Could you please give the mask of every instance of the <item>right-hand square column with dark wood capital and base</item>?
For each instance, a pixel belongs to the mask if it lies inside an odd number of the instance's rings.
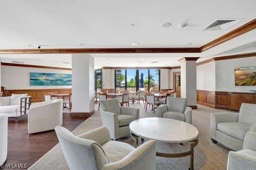
[[[187,105],[197,109],[197,59],[199,57],[184,57],[180,62],[180,93],[181,98],[187,98]]]

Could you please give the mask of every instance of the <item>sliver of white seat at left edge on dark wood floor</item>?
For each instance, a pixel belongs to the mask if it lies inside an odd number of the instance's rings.
[[[0,117],[0,166],[7,158],[8,117]]]

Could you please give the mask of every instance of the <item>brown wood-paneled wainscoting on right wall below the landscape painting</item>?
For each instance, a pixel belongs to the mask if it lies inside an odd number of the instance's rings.
[[[212,108],[239,111],[243,102],[256,104],[256,93],[197,90],[197,103]]]

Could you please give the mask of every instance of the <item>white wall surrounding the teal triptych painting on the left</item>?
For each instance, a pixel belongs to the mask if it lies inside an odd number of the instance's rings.
[[[72,88],[71,85],[56,86],[30,86],[30,72],[71,74],[71,70],[46,69],[46,68],[25,68],[14,66],[1,66],[1,86],[6,89],[46,89],[46,88]]]

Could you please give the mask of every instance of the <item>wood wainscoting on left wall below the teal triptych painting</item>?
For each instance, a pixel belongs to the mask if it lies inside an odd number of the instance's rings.
[[[31,96],[32,102],[43,102],[44,95],[49,93],[69,94],[72,93],[72,88],[54,88],[54,89],[22,89],[22,90],[8,90],[9,94],[24,94]]]

